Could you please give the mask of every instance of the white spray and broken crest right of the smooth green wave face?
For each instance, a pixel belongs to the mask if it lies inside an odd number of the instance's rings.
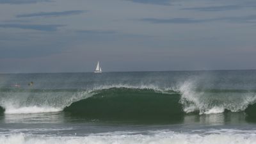
[[[199,111],[199,114],[223,113],[225,110],[244,111],[249,104],[256,102],[255,92],[237,90],[197,90],[193,81],[180,86],[180,104],[186,113]]]

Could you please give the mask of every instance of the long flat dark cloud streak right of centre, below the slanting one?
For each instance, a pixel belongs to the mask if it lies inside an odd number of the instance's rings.
[[[154,19],[154,18],[145,18],[145,19],[140,19],[145,22],[151,22],[151,23],[156,23],[156,24],[191,24],[191,23],[198,23],[198,22],[206,22],[208,21],[207,19],[205,20],[196,20],[196,19],[189,19],[189,18],[173,18],[173,19]]]

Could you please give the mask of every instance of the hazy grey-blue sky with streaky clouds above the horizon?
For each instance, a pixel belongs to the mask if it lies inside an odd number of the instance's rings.
[[[0,73],[256,68],[255,0],[0,0]]]

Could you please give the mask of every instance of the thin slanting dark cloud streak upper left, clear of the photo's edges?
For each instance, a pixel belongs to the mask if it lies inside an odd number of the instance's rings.
[[[84,10],[70,10],[63,12],[40,12],[40,13],[29,13],[17,15],[16,17],[60,17],[65,15],[78,15],[80,13],[84,13]]]

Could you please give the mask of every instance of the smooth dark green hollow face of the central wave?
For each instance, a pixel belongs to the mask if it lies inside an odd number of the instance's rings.
[[[179,93],[110,88],[64,109],[74,116],[100,120],[180,120],[184,111]]]

